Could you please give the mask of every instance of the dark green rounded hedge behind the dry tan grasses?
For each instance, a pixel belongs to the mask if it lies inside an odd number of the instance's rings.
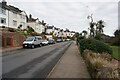
[[[98,53],[106,52],[112,54],[112,48],[109,45],[99,40],[82,39],[80,40],[79,44],[80,44],[81,53],[83,53],[85,49],[89,49]]]

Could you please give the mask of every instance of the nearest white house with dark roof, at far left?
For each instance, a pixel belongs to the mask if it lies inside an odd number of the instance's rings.
[[[26,29],[26,12],[14,6],[7,5],[5,0],[0,3],[0,27]]]

